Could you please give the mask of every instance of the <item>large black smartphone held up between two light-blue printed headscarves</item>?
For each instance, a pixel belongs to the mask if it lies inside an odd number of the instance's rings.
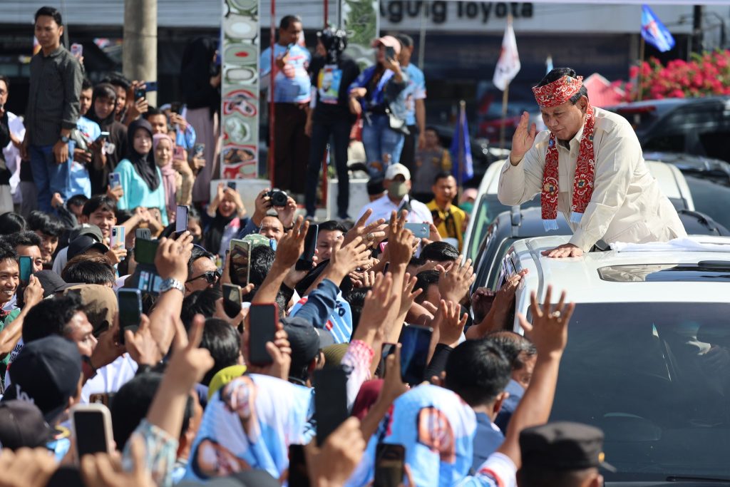
[[[315,370],[317,445],[347,419],[347,374],[342,367]]]

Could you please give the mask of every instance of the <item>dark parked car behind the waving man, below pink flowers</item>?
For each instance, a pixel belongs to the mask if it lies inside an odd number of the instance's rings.
[[[730,97],[634,101],[607,107],[631,122],[646,151],[688,153],[730,162]]]

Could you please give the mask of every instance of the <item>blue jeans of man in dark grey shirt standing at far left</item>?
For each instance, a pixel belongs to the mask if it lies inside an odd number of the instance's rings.
[[[53,193],[61,193],[61,198],[69,199],[71,192],[70,168],[74,157],[74,142],[69,142],[69,160],[55,164],[53,145],[31,145],[28,152],[31,158],[31,171],[38,190],[38,209],[51,213],[50,199]]]

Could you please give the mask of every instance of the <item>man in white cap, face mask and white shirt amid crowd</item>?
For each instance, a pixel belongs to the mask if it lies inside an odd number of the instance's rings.
[[[407,210],[407,221],[410,223],[434,223],[431,216],[431,210],[425,204],[410,199],[408,193],[411,190],[410,171],[403,164],[391,164],[385,171],[383,179],[385,186],[385,194],[374,202],[366,204],[358,215],[358,219],[364,215],[367,210],[372,210],[372,215],[368,218],[366,224],[384,218],[388,221],[391,218],[391,212],[401,212]]]

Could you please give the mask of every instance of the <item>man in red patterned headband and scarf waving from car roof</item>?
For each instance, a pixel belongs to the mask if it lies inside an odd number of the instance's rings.
[[[583,77],[556,68],[532,88],[547,131],[536,134],[524,112],[499,177],[502,204],[541,193],[545,229],[557,229],[560,210],[573,236],[545,250],[548,257],[580,257],[599,240],[666,242],[686,237],[682,222],[642,157],[629,122],[591,107]]]

